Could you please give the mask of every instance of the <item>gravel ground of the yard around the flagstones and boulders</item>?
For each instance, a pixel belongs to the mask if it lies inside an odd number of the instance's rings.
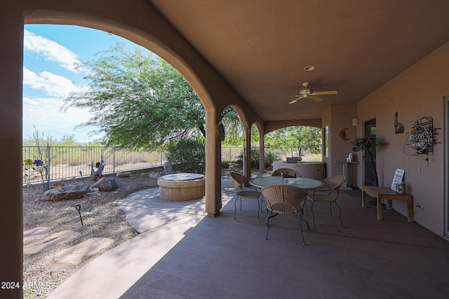
[[[229,172],[232,171],[241,172],[241,165],[230,163],[229,167],[222,169],[222,175],[229,175]],[[44,239],[61,230],[73,230],[74,232],[79,232],[80,235],[69,242],[54,246],[41,253],[23,257],[24,281],[27,284],[39,286],[24,289],[24,298],[46,298],[62,281],[65,281],[65,279],[69,278],[91,260],[138,235],[138,232],[126,221],[126,215],[121,211],[118,203],[124,197],[136,191],[156,188],[157,181],[156,179],[149,179],[150,173],[150,171],[136,172],[128,178],[115,177],[119,185],[118,189],[101,192],[101,195],[98,197],[96,195],[88,195],[79,200],[43,202],[39,200],[43,194],[43,186],[41,184],[32,188],[25,187],[23,189],[23,230],[39,226],[48,227],[51,230],[40,237],[28,239],[27,242],[24,242],[24,245]],[[88,178],[85,178],[84,181],[76,179],[64,181],[64,183],[66,185],[87,183],[89,186],[93,184]],[[81,204],[83,225],[81,225],[79,213],[75,208],[77,203]],[[82,260],[79,265],[62,265],[54,262],[56,253],[86,241],[86,239],[91,237],[111,238],[114,239],[114,243],[98,251],[90,258]]]

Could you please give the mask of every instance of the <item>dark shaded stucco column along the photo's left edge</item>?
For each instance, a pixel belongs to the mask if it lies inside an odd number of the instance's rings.
[[[22,67],[23,18],[16,8],[0,8],[0,281],[2,298],[22,298]]]

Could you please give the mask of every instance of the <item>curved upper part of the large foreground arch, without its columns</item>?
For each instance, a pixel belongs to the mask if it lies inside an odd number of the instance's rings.
[[[45,4],[34,4],[29,0],[23,2],[25,24],[78,25],[98,29],[151,50],[185,77],[205,109],[215,109],[207,86],[212,82],[224,85],[221,78],[148,2],[133,1],[135,4],[130,4],[130,1],[119,1],[114,6],[105,2],[101,10],[87,0],[46,1]],[[142,19],[148,22],[138,22]],[[209,80],[205,82],[205,78]]]

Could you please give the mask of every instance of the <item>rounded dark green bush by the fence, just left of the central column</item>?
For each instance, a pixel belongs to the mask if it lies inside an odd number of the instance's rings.
[[[166,157],[175,170],[201,174],[206,167],[206,146],[198,139],[181,139],[168,146]]]

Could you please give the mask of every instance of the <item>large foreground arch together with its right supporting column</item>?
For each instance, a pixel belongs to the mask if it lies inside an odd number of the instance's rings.
[[[221,143],[216,133],[220,111],[236,103],[252,118],[258,116],[192,44],[149,1],[114,1],[113,6],[102,1],[101,9],[99,1],[90,0],[6,1],[11,8],[20,6],[25,24],[79,25],[111,32],[151,50],[185,77],[206,109],[206,211],[209,216],[218,214],[222,198]]]

